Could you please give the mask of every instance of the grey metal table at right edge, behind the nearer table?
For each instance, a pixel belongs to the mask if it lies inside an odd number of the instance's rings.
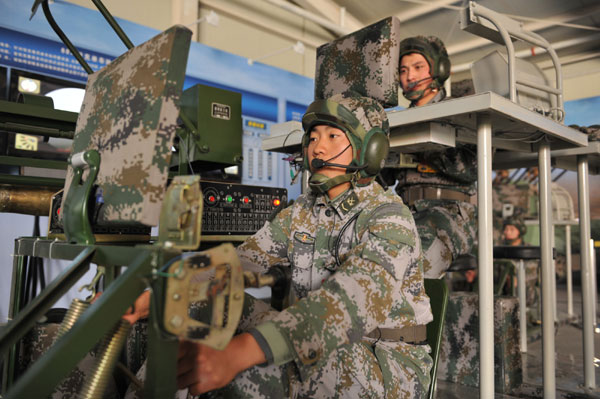
[[[591,221],[589,174],[600,174],[600,142],[589,142],[586,147],[552,151],[550,154],[553,166],[561,169],[577,171],[577,191],[579,197],[579,239],[581,253],[581,291],[583,318],[583,366],[586,388],[596,388],[594,371],[594,324],[596,320],[596,279],[595,265],[591,260]],[[494,164],[499,168],[509,165],[519,167],[532,166],[531,154],[498,154]],[[513,166],[515,167],[515,166]],[[571,305],[572,306],[572,305]]]

